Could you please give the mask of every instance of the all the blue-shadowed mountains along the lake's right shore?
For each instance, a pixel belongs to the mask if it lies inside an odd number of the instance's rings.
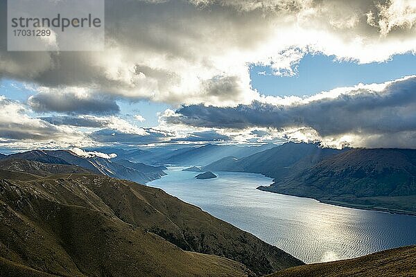
[[[399,213],[416,213],[416,150],[320,148],[284,145],[202,168],[256,172],[275,178],[259,189],[323,202]]]

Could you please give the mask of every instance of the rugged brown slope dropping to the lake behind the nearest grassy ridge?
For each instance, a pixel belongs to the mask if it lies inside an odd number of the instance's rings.
[[[97,177],[100,181],[95,182],[78,175],[71,178],[78,184],[86,184],[123,221],[157,233],[184,250],[225,256],[259,275],[303,264],[277,247],[158,188],[130,181],[114,184],[114,179],[105,177]]]

